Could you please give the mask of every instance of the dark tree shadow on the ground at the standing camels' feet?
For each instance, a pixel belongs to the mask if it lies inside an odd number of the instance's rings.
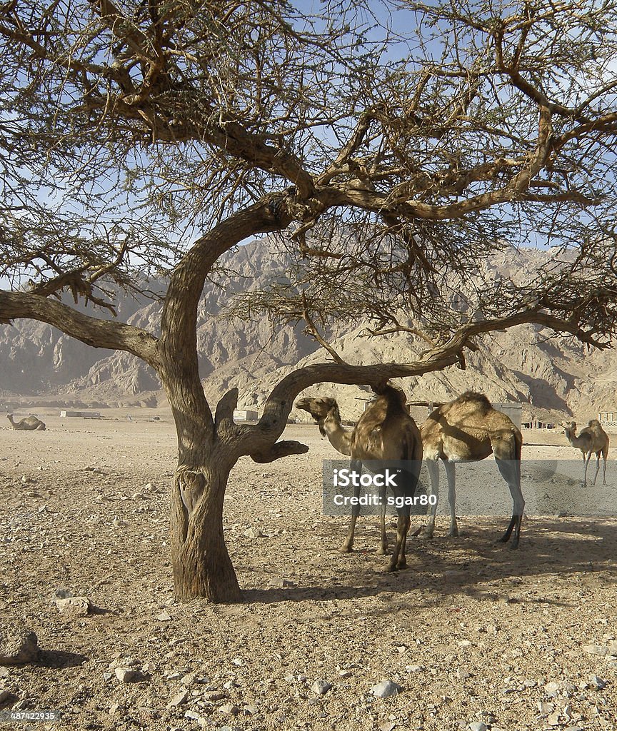
[[[500,599],[512,604],[565,606],[567,602],[550,596],[517,598],[512,581],[524,582],[526,577],[542,574],[593,575],[615,569],[612,557],[617,555],[617,523],[614,520],[579,518],[572,522],[567,518],[527,518],[524,525],[526,530],[521,534],[521,545],[516,550],[510,550],[508,544],[497,540],[499,531],[491,539],[487,532],[493,528],[488,529],[485,525],[467,524],[465,534],[460,538],[438,534],[431,540],[409,539],[409,567],[394,573],[385,570],[387,560],[377,556],[374,547],[341,553],[338,558],[333,551],[335,565],[331,569],[341,570],[340,583],[332,583],[330,577],[324,577],[321,585],[319,579],[308,586],[300,585],[302,577],[298,576],[294,577],[298,586],[246,589],[243,601],[254,604],[328,602],[385,594],[402,597],[420,592],[420,598],[414,598],[417,607],[439,605],[444,596],[461,594],[480,601]],[[327,537],[323,539],[326,541]],[[358,545],[366,539],[366,535],[358,535]],[[358,558],[362,559],[361,563]],[[268,568],[262,569],[265,570],[262,576],[265,576]],[[272,575],[277,573],[272,571]],[[617,583],[617,575],[603,577],[603,580]],[[501,582],[503,586],[499,586]]]

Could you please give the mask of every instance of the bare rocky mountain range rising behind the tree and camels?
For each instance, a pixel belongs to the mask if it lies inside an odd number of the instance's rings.
[[[200,303],[197,341],[200,372],[209,398],[237,386],[241,408],[259,409],[276,382],[298,365],[324,360],[323,352],[301,326],[273,326],[267,319],[237,322],[224,317],[236,292],[264,288],[289,268],[282,251],[272,254],[267,240],[256,240],[228,254],[225,289],[207,284]],[[534,249],[496,254],[488,276],[537,268],[548,254]],[[164,283],[150,283],[164,292]],[[118,296],[118,317],[153,333],[159,328],[160,301]],[[87,311],[87,310],[86,310]],[[96,313],[100,317],[100,313]],[[411,336],[363,337],[363,324],[340,322],[333,344],[350,363],[406,362],[422,349]],[[524,412],[575,414],[590,418],[617,411],[617,355],[588,352],[572,338],[554,336],[526,325],[485,336],[478,352],[467,356],[467,369],[455,367],[404,385],[412,401],[446,401],[466,388],[493,401],[520,401]],[[357,417],[368,389],[322,384],[310,393],[336,395],[350,419]],[[55,405],[157,406],[165,403],[156,374],[124,352],[81,344],[48,325],[20,320],[0,327],[0,402]],[[300,412],[298,416],[304,417]]]

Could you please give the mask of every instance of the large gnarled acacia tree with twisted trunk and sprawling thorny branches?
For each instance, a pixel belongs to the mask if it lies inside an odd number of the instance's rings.
[[[379,390],[526,322],[597,347],[616,327],[616,4],[342,5],[0,5],[0,322],[47,322],[158,374],[178,433],[179,599],[241,596],[227,477],[241,455],[306,451],[279,441],[300,390]],[[224,252],[267,232],[287,235],[298,267],[241,304],[303,319],[330,360],[282,379],[260,423],[236,425],[237,390],[216,409],[205,399],[197,306]],[[559,247],[554,265],[477,279],[488,254],[531,237]],[[110,317],[111,284],[143,292],[160,275],[159,333]],[[473,276],[468,306],[451,306],[453,278]],[[77,310],[67,290],[102,311]],[[344,363],[319,325],[341,313],[427,349]]]

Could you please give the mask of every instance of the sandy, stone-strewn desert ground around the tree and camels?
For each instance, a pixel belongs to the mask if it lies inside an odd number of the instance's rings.
[[[322,514],[321,492],[322,460],[336,452],[317,428],[290,425],[286,438],[308,454],[232,472],[225,530],[246,601],[181,605],[167,533],[173,423],[130,413],[42,411],[48,431],[0,430],[0,624],[26,624],[43,651],[0,667],[2,708],[61,712],[7,727],[616,726],[616,519],[526,515],[510,550],[495,542],[512,505],[495,470],[502,516],[461,515],[458,538],[439,517],[434,539],[410,540],[409,568],[388,574],[374,517],[358,521],[353,553],[338,552],[347,519]],[[561,434],[523,438],[523,459],[579,458]],[[617,503],[612,441],[605,490]],[[63,596],[94,608],[67,618]],[[131,682],[121,667],[137,671]],[[382,681],[400,692],[375,697]]]

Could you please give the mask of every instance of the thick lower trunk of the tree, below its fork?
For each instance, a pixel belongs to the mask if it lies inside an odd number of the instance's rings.
[[[241,590],[223,534],[223,501],[230,467],[216,456],[186,466],[181,458],[171,499],[175,596],[187,602],[238,602]]]

